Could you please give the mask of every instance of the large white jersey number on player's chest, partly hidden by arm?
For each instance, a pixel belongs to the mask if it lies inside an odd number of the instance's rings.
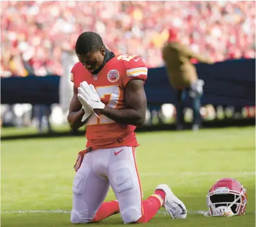
[[[109,107],[116,108],[120,99],[120,89],[118,85],[98,86],[96,87],[96,91],[100,95],[100,99],[107,99],[107,105]],[[114,121],[105,115],[100,115],[99,119],[95,114],[92,114],[88,119],[87,125],[108,123],[114,123]]]

